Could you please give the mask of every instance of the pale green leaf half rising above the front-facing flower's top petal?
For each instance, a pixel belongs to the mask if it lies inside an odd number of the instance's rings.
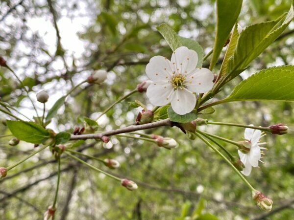
[[[179,36],[172,30],[172,28],[169,25],[163,23],[157,26],[156,29],[164,37],[166,42],[170,45],[172,51],[174,51],[176,48],[182,45]]]

